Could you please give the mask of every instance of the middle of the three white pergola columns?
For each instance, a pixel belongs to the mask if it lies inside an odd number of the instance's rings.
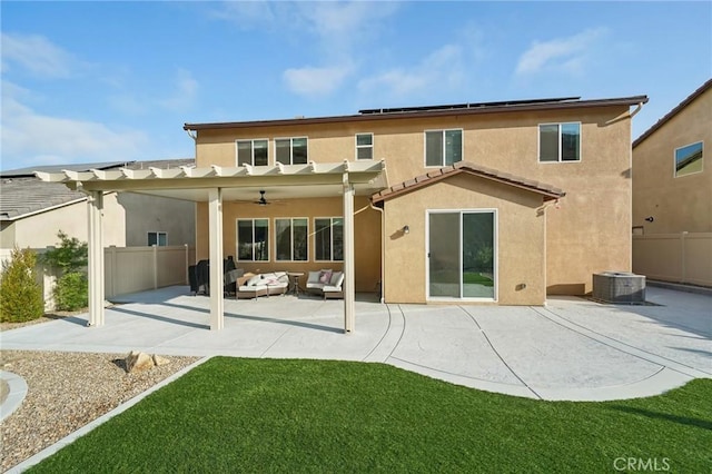
[[[219,330],[225,325],[225,304],[222,300],[222,189],[209,191],[210,244],[210,329]]]

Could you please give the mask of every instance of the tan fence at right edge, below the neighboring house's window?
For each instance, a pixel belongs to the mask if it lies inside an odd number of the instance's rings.
[[[650,279],[712,286],[712,233],[634,235],[633,271]]]

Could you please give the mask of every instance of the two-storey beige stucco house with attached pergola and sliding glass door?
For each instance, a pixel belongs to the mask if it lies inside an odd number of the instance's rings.
[[[101,190],[195,200],[210,286],[221,287],[229,255],[246,271],[304,273],[303,284],[310,270],[344,270],[350,332],[355,292],[380,290],[386,303],[543,305],[591,292],[594,273],[630,270],[631,120],[646,101],[186,124],[196,168],[40,176],[95,192],[95,229]],[[222,298],[210,297],[219,329]],[[100,324],[99,305],[92,313]]]

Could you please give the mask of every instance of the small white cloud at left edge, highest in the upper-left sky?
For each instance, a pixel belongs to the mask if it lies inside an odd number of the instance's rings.
[[[76,59],[38,34],[2,33],[3,72],[18,65],[36,76],[68,78]]]

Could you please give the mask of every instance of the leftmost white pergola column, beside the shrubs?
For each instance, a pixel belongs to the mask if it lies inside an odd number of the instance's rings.
[[[91,191],[87,200],[89,214],[88,277],[89,326],[103,326],[103,191]]]

